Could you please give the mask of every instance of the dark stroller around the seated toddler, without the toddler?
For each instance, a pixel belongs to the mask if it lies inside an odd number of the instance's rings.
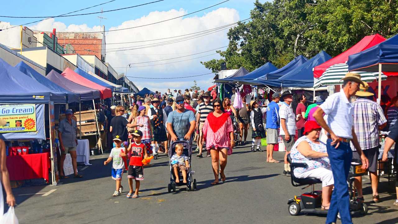
[[[171,143],[170,145],[170,149],[169,149],[169,158],[172,157],[172,155],[174,154],[174,152],[176,151],[176,145],[177,144],[181,144],[184,146],[184,151],[183,154],[186,155],[189,158],[189,169],[187,170],[187,183],[183,183],[183,177],[182,177],[182,173],[178,172],[178,179],[179,179],[179,183],[176,183],[176,181],[174,181],[174,172],[173,172],[173,165],[171,164],[171,161],[169,159],[169,166],[170,166],[170,183],[167,186],[167,189],[170,192],[176,192],[176,186],[183,186],[186,185],[187,186],[187,191],[195,191],[197,189],[197,185],[196,185],[196,179],[193,179],[192,174],[194,173],[191,169],[191,157],[192,157],[192,147],[189,145],[188,141],[174,141]]]

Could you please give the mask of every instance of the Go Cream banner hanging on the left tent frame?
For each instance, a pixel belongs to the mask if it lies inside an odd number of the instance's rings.
[[[6,120],[0,133],[36,132],[35,104],[0,104],[0,119]]]

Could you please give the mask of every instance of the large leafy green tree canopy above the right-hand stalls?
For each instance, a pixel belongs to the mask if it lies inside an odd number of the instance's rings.
[[[213,73],[227,69],[248,71],[271,62],[283,67],[297,55],[307,58],[324,50],[332,57],[367,35],[388,38],[398,33],[396,0],[274,0],[254,3],[252,20],[227,33],[228,48],[221,59],[201,62]]]

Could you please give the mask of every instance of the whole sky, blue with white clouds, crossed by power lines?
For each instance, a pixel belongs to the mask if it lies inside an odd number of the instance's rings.
[[[114,2],[97,6],[88,10],[84,10],[80,13],[98,12],[103,10],[112,10],[116,8],[123,8],[128,6],[134,6],[154,0],[138,0],[138,1],[127,1],[127,0],[115,0]],[[100,19],[97,16],[102,16],[107,19],[101,21],[102,25],[105,25],[105,29],[117,29],[126,28],[142,24],[148,24],[173,18],[179,15],[187,14],[207,8],[211,5],[222,2],[223,0],[164,0],[149,4],[146,6],[139,6],[137,8],[119,10],[116,12],[106,12],[102,15],[86,15],[86,16],[74,16],[55,18],[43,21],[41,24],[31,24],[28,27],[51,30],[52,28],[58,28],[57,30],[65,29],[66,31],[91,31],[96,30],[96,26],[100,25]],[[74,10],[79,10],[89,6],[93,6],[99,3],[107,2],[102,1],[81,1],[81,0],[69,0],[67,2],[61,1],[48,1],[48,0],[37,0],[32,4],[31,1],[3,1],[2,7],[0,7],[0,15],[2,16],[54,16],[59,14],[68,13]],[[125,32],[114,31],[106,34],[107,43],[120,43],[127,40],[130,41],[142,41],[148,39],[158,39],[164,37],[171,37],[176,35],[183,35],[187,33],[193,33],[197,31],[207,30],[231,24],[237,20],[243,20],[250,17],[250,10],[254,8],[255,0],[230,0],[213,8],[209,8],[205,11],[201,11],[187,17],[172,20],[158,24],[157,26],[146,26],[145,28],[130,29]],[[265,2],[261,0],[260,2]],[[12,9],[12,10],[10,10]],[[27,22],[33,22],[35,18],[1,18],[2,22],[10,22],[12,25],[20,25]],[[142,50],[131,50],[123,51],[119,53],[125,53],[129,55],[120,55],[114,53],[108,53],[106,60],[111,63],[113,67],[125,67],[128,63],[140,63],[146,61],[155,61],[162,59],[169,59],[173,57],[179,57],[184,55],[190,55],[193,53],[199,53],[217,47],[228,45],[226,39],[226,32],[220,31],[205,37],[196,38],[181,43],[174,43],[167,46],[152,47]],[[151,43],[151,42],[147,42]],[[117,47],[128,47],[135,46],[136,44],[124,44],[124,45],[107,45],[109,48]],[[189,53],[191,52],[191,53]],[[191,59],[194,57],[201,57],[203,55],[209,55],[212,52],[202,53],[193,55],[190,57],[184,57],[181,59],[161,61],[158,63],[167,63],[173,61],[180,61],[184,59]],[[135,55],[132,55],[135,54]],[[138,56],[137,54],[140,54]],[[156,54],[156,55],[154,55]],[[131,68],[127,71],[127,76],[134,77],[184,77],[190,75],[201,75],[209,73],[200,61],[207,61],[209,59],[218,58],[218,55],[211,55],[208,57],[202,57],[199,59],[193,59],[190,61],[173,63],[170,65],[161,66],[148,66]],[[139,65],[154,65],[156,63],[142,63]],[[125,69],[117,69],[119,72],[124,72]],[[151,90],[160,90],[164,92],[167,88],[178,88],[184,89],[189,88],[193,85],[193,80],[198,81],[198,85],[202,88],[211,86],[211,78],[213,75],[206,75],[195,78],[184,78],[178,80],[143,80],[129,78],[140,88],[147,87]],[[159,83],[162,83],[160,85]]]

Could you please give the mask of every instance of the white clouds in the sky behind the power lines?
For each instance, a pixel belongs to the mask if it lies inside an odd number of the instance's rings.
[[[136,20],[125,21],[119,26],[114,26],[109,28],[109,30],[142,26],[145,24],[155,23],[161,20],[166,20],[168,18],[182,16],[187,13],[189,12],[187,12],[182,8],[179,10],[173,9],[162,12],[154,11]],[[195,33],[207,29],[213,29],[227,24],[232,24],[234,22],[237,22],[238,20],[239,20],[239,14],[237,10],[232,8],[218,8],[217,10],[208,12],[203,16],[183,17],[140,28],[107,32],[105,34],[105,40],[106,43],[120,43],[120,42],[160,39],[165,37],[184,35],[187,33]],[[29,28],[37,30],[46,30],[46,31],[56,28],[58,32],[60,31],[81,32],[81,31],[100,30],[99,26],[94,26],[90,28],[86,24],[80,24],[80,25],[70,24],[66,26],[62,22],[55,22],[54,19],[44,20],[42,22],[39,22],[35,26],[30,26]],[[159,47],[150,47],[145,49],[114,52],[117,54],[107,53],[106,61],[109,62],[112,65],[112,67],[125,67],[129,63],[156,61],[161,59],[190,55],[193,53],[199,53],[201,51],[206,51],[228,45],[228,39],[226,38],[227,32],[228,29],[225,29],[223,31],[216,32],[214,34],[205,35],[203,37],[198,37],[195,39],[182,41],[179,43],[163,45]],[[111,48],[133,47],[137,45],[157,43],[172,39],[147,41],[139,43],[111,44],[111,45],[108,44],[106,45],[106,48],[107,51],[111,51]],[[173,54],[173,53],[192,52],[192,51],[195,52]],[[180,59],[136,64],[132,66],[154,65],[154,64],[168,63],[173,61],[181,61],[185,59],[191,59],[195,57],[209,55],[211,53],[215,53],[215,51],[206,52],[203,54],[193,55],[189,57],[183,57]],[[122,54],[141,54],[141,55],[122,55]],[[153,54],[170,54],[170,55],[153,55]],[[209,73],[210,71],[205,69],[203,65],[201,65],[199,62],[207,61],[211,58],[217,58],[217,57],[219,57],[219,55],[212,55],[209,57],[194,59],[192,61],[172,63],[168,65],[131,68],[128,70],[127,76],[159,78],[159,77],[184,77],[191,75],[201,75]],[[125,72],[125,69],[117,69],[117,71]],[[198,86],[201,86],[202,89],[207,89],[207,87],[212,85],[211,81],[213,80],[213,77],[214,77],[213,74],[209,74],[203,77],[192,77],[192,78],[172,79],[172,80],[148,80],[148,79],[145,80],[145,79],[134,79],[134,78],[129,78],[129,79],[133,81],[140,89],[143,87],[147,87],[151,90],[159,90],[161,92],[165,92],[167,88],[177,88],[177,89],[189,88],[190,86],[193,85],[193,80],[197,80]]]

